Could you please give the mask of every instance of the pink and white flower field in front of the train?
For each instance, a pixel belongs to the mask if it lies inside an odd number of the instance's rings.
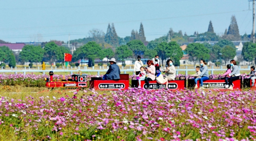
[[[15,141],[251,141],[256,91],[1,88],[0,139]]]

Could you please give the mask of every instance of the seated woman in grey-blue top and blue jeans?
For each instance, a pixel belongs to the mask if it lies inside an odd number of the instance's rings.
[[[195,88],[198,88],[198,80],[200,81],[200,89],[203,88],[203,81],[209,80],[208,67],[206,66],[205,60],[200,60],[200,75],[195,79]]]

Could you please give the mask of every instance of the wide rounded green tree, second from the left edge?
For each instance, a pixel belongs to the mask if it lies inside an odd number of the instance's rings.
[[[44,57],[45,50],[41,46],[25,45],[19,53],[20,59],[30,63],[40,62]]]

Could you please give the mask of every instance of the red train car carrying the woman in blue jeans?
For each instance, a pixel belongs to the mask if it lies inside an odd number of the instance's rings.
[[[189,77],[192,78],[192,77]],[[212,76],[209,77],[209,80],[203,82],[203,88],[205,89],[219,89],[219,90],[229,90],[225,88],[225,80],[221,79],[222,76],[219,76],[218,79],[213,80]],[[188,88],[194,89],[195,80],[188,79]],[[198,88],[200,88],[200,83],[198,81]],[[240,76],[239,80],[233,81],[233,89],[242,89],[242,76]]]

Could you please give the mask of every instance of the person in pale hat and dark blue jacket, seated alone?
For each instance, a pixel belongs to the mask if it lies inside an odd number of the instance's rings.
[[[119,80],[120,79],[120,69],[117,66],[116,59],[111,58],[109,60],[110,66],[109,70],[106,72],[106,74],[103,76],[102,80]]]

